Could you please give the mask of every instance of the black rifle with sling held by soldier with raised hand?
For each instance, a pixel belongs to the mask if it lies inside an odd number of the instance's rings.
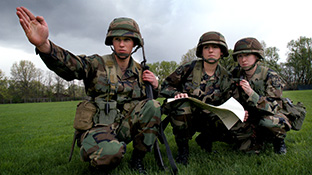
[[[145,52],[144,52],[144,47],[143,46],[142,46],[142,54],[143,54],[143,61],[141,62],[141,67],[142,67],[143,71],[145,71],[145,70],[148,70],[149,67],[146,65],[146,58],[145,58]],[[148,100],[154,99],[153,87],[152,87],[151,83],[145,81],[144,84],[145,84],[145,88],[146,88],[147,99]],[[167,153],[167,156],[168,156],[168,159],[169,159],[169,163],[170,163],[171,168],[172,168],[171,173],[172,174],[177,174],[178,168],[177,168],[177,166],[176,166],[176,164],[174,162],[174,159],[173,159],[173,156],[172,156],[172,153],[171,153],[171,150],[170,150],[170,147],[169,147],[169,144],[168,144],[168,141],[166,139],[166,135],[164,134],[164,129],[163,129],[163,128],[166,128],[166,126],[168,125],[168,123],[169,123],[168,121],[169,120],[166,120],[166,122],[162,121],[160,123],[158,139],[159,139],[159,141],[162,144],[165,144],[166,153]],[[163,125],[164,125],[164,127],[163,127]],[[166,170],[167,168],[166,168],[166,166],[164,164],[164,161],[163,161],[163,158],[162,158],[162,155],[161,155],[161,152],[160,152],[160,148],[159,148],[159,143],[158,143],[157,139],[156,139],[156,141],[154,143],[154,156],[155,156],[155,159],[157,161],[158,166],[161,167],[163,170]]]

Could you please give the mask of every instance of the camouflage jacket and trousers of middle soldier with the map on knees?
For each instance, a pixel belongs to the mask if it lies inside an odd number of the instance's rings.
[[[201,60],[201,62],[203,61]],[[216,106],[231,97],[230,74],[222,66],[217,66],[213,76],[202,71],[201,82],[199,86],[195,86],[193,83],[194,70],[188,77],[183,77],[190,65],[191,62],[181,65],[165,79],[160,91],[162,96],[173,98],[178,93],[187,93],[190,97]],[[205,132],[208,130],[208,125],[225,127],[217,116],[213,117],[209,111],[202,111],[189,102],[175,104],[175,106],[164,109],[164,112],[172,117],[171,125],[176,139],[191,139],[195,131]],[[214,128],[218,129],[218,127]],[[213,132],[216,133],[217,131],[214,130]]]

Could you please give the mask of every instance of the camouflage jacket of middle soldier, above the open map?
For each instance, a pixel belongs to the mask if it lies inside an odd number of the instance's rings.
[[[204,67],[203,60],[200,61]],[[221,65],[218,64],[213,76],[209,76],[202,71],[201,82],[195,86],[192,82],[194,70],[184,77],[190,69],[191,63],[179,66],[162,83],[160,94],[166,98],[172,98],[178,93],[187,93],[190,97],[202,100],[205,103],[220,105],[231,96],[231,75]]]

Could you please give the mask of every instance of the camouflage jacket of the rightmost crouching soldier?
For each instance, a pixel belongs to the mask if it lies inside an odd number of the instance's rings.
[[[243,78],[247,80],[245,71],[237,67],[233,71],[234,78]],[[259,63],[257,64],[254,75],[248,80],[251,88],[254,90],[251,96],[248,96],[240,87],[235,93],[236,99],[248,111],[258,109],[267,114],[276,114],[280,107],[282,89],[284,83],[282,78],[272,69],[268,69]],[[253,110],[250,110],[253,109]]]

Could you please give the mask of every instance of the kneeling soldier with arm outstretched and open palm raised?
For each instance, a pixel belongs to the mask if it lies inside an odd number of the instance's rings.
[[[157,98],[156,77],[132,58],[137,49],[143,49],[138,24],[130,18],[114,19],[105,38],[112,54],[76,56],[48,39],[43,17],[24,7],[18,7],[16,14],[47,67],[67,81],[84,82],[90,100],[78,105],[74,121],[82,160],[100,169],[115,168],[133,140],[130,165],[145,174],[142,160],[156,140],[161,112],[159,102],[147,99],[145,91],[148,82]]]

